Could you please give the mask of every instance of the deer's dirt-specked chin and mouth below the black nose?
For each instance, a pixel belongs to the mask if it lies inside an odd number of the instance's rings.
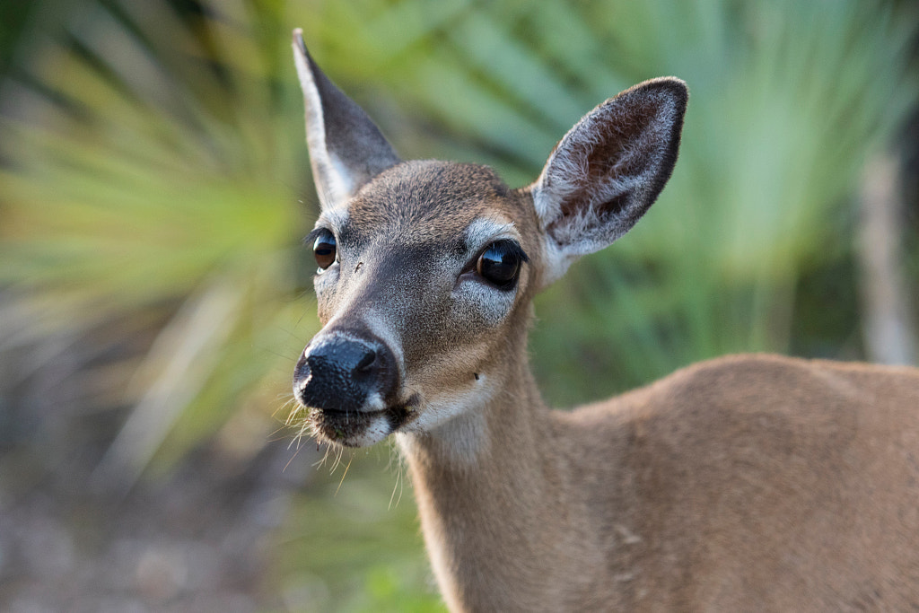
[[[312,409],[310,422],[319,440],[344,447],[369,447],[413,422],[418,411],[411,403],[380,411]]]

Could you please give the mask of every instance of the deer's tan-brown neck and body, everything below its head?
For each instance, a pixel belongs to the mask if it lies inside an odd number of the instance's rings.
[[[520,368],[519,366],[517,368]],[[914,610],[919,372],[775,356],[408,446],[451,610]]]

